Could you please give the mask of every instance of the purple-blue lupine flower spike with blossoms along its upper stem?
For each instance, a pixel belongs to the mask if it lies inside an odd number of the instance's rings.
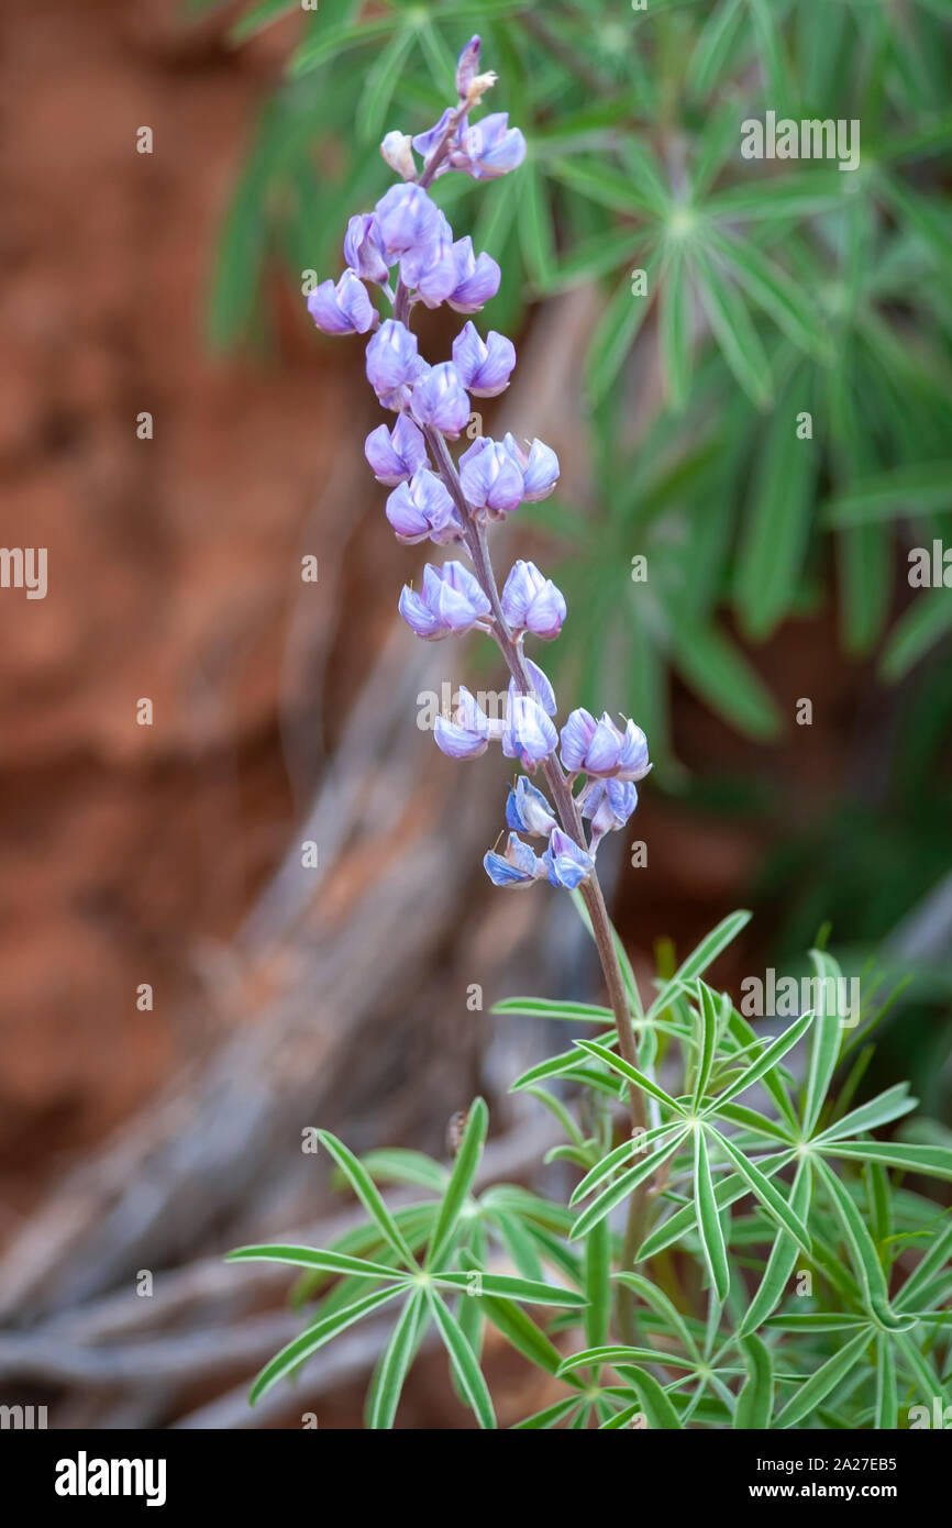
[[[480,70],[480,38],[472,37],[457,61],[455,105],[414,138],[387,133],[380,153],[399,180],[373,211],[350,219],[344,275],[336,284],[319,286],[307,306],[327,333],[370,335],[367,379],[382,406],[397,417],[371,431],[365,454],[377,481],[390,489],[387,520],[397,539],[452,547],[452,559],[442,567],[426,564],[419,593],[403,590],[403,620],[425,642],[474,628],[489,633],[510,671],[504,720],[491,720],[461,688],[452,718],[436,723],[437,746],[449,758],[478,758],[498,743],[526,772],[509,792],[506,848],[486,854],[486,872],[497,886],[549,880],[575,889],[594,876],[604,836],[622,828],[634,811],[634,781],[651,769],[648,743],[633,721],[619,727],[608,714],[596,721],[582,709],[568,715],[559,735],[555,692],[524,646],[559,636],[568,614],[565,597],[535,562],[523,559],[497,593],[487,527],[520,504],[552,494],[559,461],[544,442],[520,442],[512,434],[501,440],[478,435],[455,460],[448,442],[469,426],[471,397],[497,397],[509,387],[515,345],[469,318],[451,358],[429,361],[410,327],[420,303],[471,315],[498,290],[495,260],[477,254],[468,235],[455,238],[428,189],[454,171],[495,180],[523,162],[526,141],[504,113],[472,119],[494,83],[492,72]],[[390,312],[379,313],[368,287]],[[529,779],[538,773],[552,804]],[[544,839],[544,853],[536,856],[520,834]]]

